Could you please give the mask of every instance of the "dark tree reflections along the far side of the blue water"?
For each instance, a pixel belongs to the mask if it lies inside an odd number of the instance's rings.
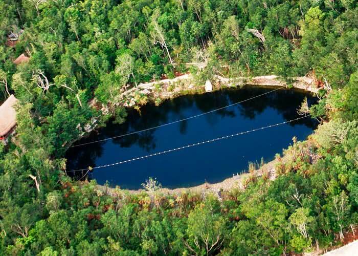
[[[243,87],[235,90],[221,90],[210,94],[177,97],[175,99],[165,100],[160,106],[147,104],[141,108],[141,113],[133,109],[129,110],[126,122],[115,124],[110,121],[106,127],[90,134],[87,138],[81,139],[77,144],[150,129],[151,127],[222,108],[223,106],[247,100],[272,90],[272,88]],[[244,118],[255,119],[256,116],[262,114],[266,108],[272,108],[282,115],[285,121],[288,121],[300,117],[297,114],[297,109],[305,97],[307,97],[309,104],[317,101],[317,99],[307,93],[282,89],[242,102],[230,108],[215,111],[215,114],[205,115],[205,118],[209,124],[219,122],[218,118],[220,117],[235,118],[238,116],[237,113]],[[289,125],[292,126],[297,124],[303,124],[314,129],[317,126],[317,121],[311,118],[303,118],[289,123]],[[185,135],[189,125],[193,125],[193,123],[187,120],[177,123],[180,134]],[[137,144],[146,152],[153,152],[156,148],[155,131],[156,129],[153,129],[70,148],[65,156],[68,159],[67,169],[86,168],[88,166],[95,167],[96,160],[103,155],[106,143],[113,143],[126,148]]]

